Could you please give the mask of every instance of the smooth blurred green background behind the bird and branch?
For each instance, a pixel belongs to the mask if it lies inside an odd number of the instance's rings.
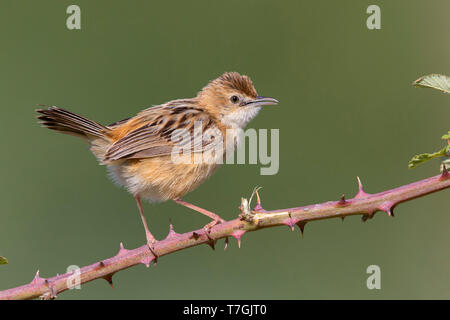
[[[66,8],[81,7],[81,30]],[[366,8],[381,7],[381,30]],[[12,1],[0,4],[0,290],[135,248],[144,232],[134,199],[106,177],[83,141],[40,128],[36,104],[109,124],[192,97],[224,71],[248,74],[280,100],[250,124],[280,129],[280,170],[228,165],[185,199],[227,219],[259,185],[266,209],[379,192],[438,173],[408,170],[449,129],[450,97],[416,89],[450,74],[448,1]],[[61,299],[450,298],[448,191],[377,214],[223,240],[118,273],[115,289],[88,283]],[[205,217],[173,203],[145,204],[158,238]],[[366,268],[381,268],[368,290]]]

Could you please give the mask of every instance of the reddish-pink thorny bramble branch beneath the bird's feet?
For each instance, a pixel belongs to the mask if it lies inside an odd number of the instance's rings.
[[[114,257],[81,268],[80,283],[103,278],[112,286],[112,277],[120,270],[141,263],[148,267],[151,262],[156,264],[159,257],[200,244],[208,244],[214,249],[216,241],[222,238],[225,238],[225,249],[228,246],[229,237],[234,237],[240,246],[244,233],[263,228],[287,225],[294,230],[297,225],[303,235],[305,224],[314,220],[336,217],[343,219],[346,216],[362,214],[365,221],[373,218],[377,211],[384,211],[389,216],[393,216],[393,209],[399,203],[450,187],[450,174],[444,166],[440,175],[375,194],[366,193],[359,178],[358,184],[358,193],[352,199],[346,200],[342,196],[338,201],[271,211],[263,209],[255,190],[257,195],[255,208],[250,210],[247,199],[242,199],[241,214],[238,218],[215,225],[211,229],[203,228],[183,234],[176,233],[170,224],[167,237],[154,245],[157,257],[152,254],[147,245],[127,250],[120,244],[120,250]],[[44,279],[39,276],[38,271],[30,283],[0,291],[0,299],[56,298],[60,292],[69,289],[72,285],[71,276],[73,273]]]

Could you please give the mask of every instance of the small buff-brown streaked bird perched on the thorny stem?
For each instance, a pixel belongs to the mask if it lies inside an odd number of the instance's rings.
[[[141,198],[150,202],[173,200],[213,219],[210,227],[224,222],[219,215],[181,198],[214,173],[230,146],[234,151],[240,142],[239,131],[256,117],[261,106],[277,103],[274,98],[258,96],[248,76],[227,72],[210,81],[194,98],[153,106],[109,126],[55,106],[36,112],[42,126],[83,138],[100,164],[108,167],[113,180],[134,196],[152,250],[156,239],[147,226]],[[226,137],[225,143],[197,139],[196,127],[202,133]],[[181,143],[183,155],[187,149],[192,152],[186,153],[188,159],[200,154],[208,161],[173,161],[174,147],[180,144],[174,139],[177,132],[190,134],[190,139]]]

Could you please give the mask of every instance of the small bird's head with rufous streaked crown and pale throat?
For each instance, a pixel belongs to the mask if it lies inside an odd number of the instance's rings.
[[[274,105],[274,98],[258,96],[248,76],[227,72],[212,80],[197,95],[199,105],[227,127],[244,128],[261,106]]]

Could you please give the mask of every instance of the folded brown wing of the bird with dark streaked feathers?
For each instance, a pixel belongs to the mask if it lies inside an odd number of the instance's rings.
[[[145,124],[112,144],[103,161],[170,155],[174,146],[183,148],[186,143],[190,144],[193,152],[208,148],[211,141],[205,143],[199,135],[208,129],[214,129],[209,116],[199,109],[189,108],[188,112],[182,109],[183,112],[179,112],[179,108],[186,106],[158,107],[153,110],[150,108],[140,113],[138,117],[141,117]],[[197,129],[194,129],[196,121],[202,130],[198,130],[198,125]],[[188,135],[190,139],[183,139],[184,135]]]

